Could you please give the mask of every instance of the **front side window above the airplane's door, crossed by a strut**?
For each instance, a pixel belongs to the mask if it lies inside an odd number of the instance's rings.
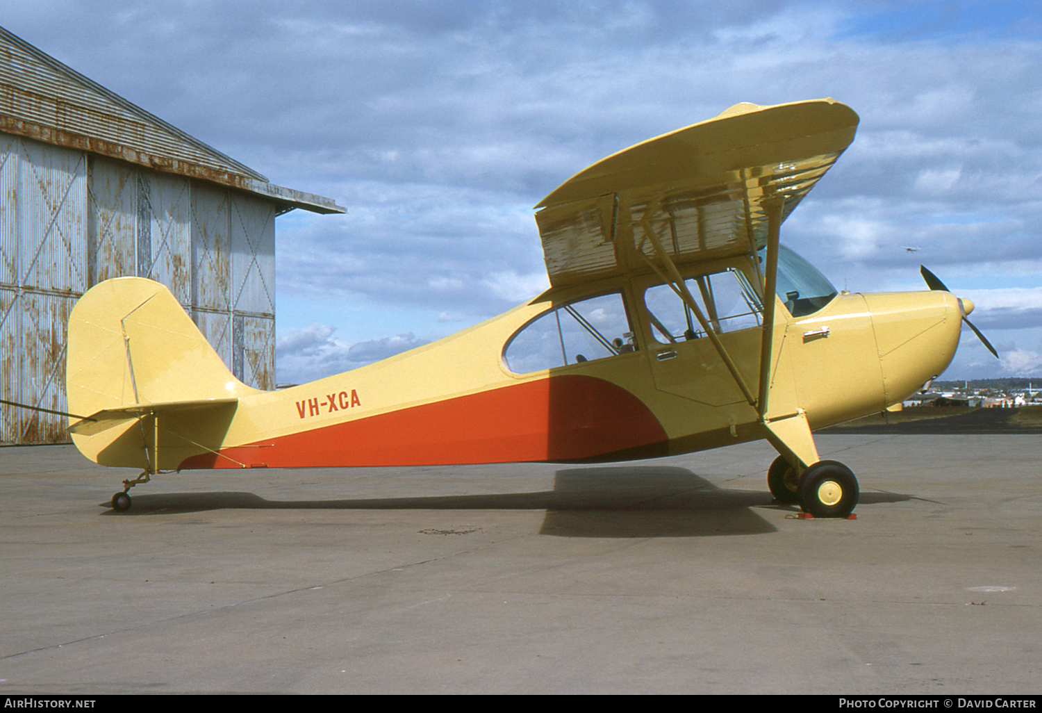
[[[702,316],[718,335],[760,326],[764,308],[745,275],[734,268],[684,280]],[[698,319],[669,285],[644,291],[651,333],[662,344],[704,337]]]

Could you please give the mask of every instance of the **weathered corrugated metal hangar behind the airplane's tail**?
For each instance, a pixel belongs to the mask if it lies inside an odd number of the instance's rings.
[[[275,216],[344,213],[273,186],[0,27],[0,399],[64,412],[76,300],[120,275],[177,297],[244,383],[275,386]],[[0,404],[0,443],[68,441]]]

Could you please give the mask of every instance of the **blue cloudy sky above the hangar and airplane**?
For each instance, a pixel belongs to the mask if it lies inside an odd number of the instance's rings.
[[[277,227],[278,380],[547,286],[531,206],[740,101],[835,97],[853,146],[783,240],[851,292],[976,304],[945,378],[1042,377],[1042,10],[902,0],[35,0],[0,25],[346,216]],[[918,247],[909,252],[905,247]]]

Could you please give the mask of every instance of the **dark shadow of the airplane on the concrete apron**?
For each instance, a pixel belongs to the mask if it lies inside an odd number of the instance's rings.
[[[864,493],[862,502],[909,499]],[[103,503],[108,507],[108,503]],[[702,537],[756,535],[776,528],[758,508],[792,511],[764,490],[718,488],[675,466],[596,466],[559,470],[553,490],[529,493],[416,497],[269,500],[254,493],[142,493],[119,517],[197,513],[209,510],[545,510],[540,534],[557,537]]]

